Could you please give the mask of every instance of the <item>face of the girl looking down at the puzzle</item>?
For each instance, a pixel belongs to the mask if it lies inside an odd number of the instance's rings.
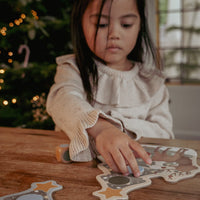
[[[92,0],[83,15],[83,32],[87,44],[96,56],[108,65],[122,66],[134,48],[140,30],[140,16],[136,0],[107,0],[100,23],[100,0]]]

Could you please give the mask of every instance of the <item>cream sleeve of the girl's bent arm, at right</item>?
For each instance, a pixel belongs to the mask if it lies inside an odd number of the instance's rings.
[[[128,130],[141,137],[174,138],[172,132],[172,116],[169,112],[169,94],[163,84],[159,91],[152,97],[146,118],[122,119]],[[148,109],[148,108],[147,108]]]

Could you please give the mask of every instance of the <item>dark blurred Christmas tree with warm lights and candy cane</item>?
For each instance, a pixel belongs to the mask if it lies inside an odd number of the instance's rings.
[[[71,53],[72,1],[0,0],[0,126],[53,129],[55,58]]]

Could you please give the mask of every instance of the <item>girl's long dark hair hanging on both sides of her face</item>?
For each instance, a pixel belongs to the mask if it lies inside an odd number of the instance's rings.
[[[84,90],[87,94],[87,99],[91,103],[93,100],[93,92],[98,87],[98,71],[94,63],[94,58],[99,59],[89,49],[82,28],[82,18],[86,8],[92,0],[74,0],[72,10],[72,44],[76,57],[76,63],[80,71]],[[106,0],[102,0],[100,13]],[[143,63],[146,54],[150,54],[153,58],[155,66],[159,69],[159,59],[156,48],[152,42],[147,19],[145,16],[145,0],[136,0],[138,12],[141,19],[141,28],[138,34],[137,42],[134,49],[128,55],[128,59]],[[100,17],[97,23],[96,35],[98,32]]]

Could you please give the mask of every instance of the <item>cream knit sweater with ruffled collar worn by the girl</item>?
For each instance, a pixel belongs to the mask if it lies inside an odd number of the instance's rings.
[[[57,58],[55,84],[47,98],[47,112],[70,138],[72,160],[92,159],[86,129],[94,126],[99,116],[135,139],[174,138],[162,76],[145,77],[137,63],[130,71],[118,71],[95,62],[99,86],[93,105],[86,99],[74,55]]]

